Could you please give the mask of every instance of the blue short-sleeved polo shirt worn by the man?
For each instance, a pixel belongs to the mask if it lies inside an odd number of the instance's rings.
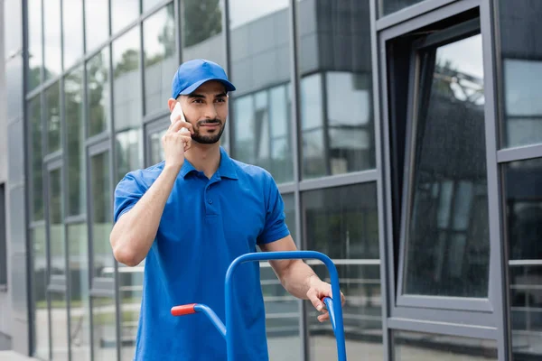
[[[224,324],[224,279],[238,255],[289,235],[284,203],[269,172],[229,158],[208,179],[185,161],[145,259],[135,360],[226,361],[226,341],[202,313],[173,317],[173,306],[207,304]],[[164,162],[131,171],[115,191],[114,220],[158,178]],[[236,360],[267,360],[259,265],[241,264],[233,278]]]

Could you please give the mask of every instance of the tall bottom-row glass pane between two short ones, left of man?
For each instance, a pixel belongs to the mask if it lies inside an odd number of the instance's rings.
[[[89,238],[87,224],[67,228],[70,250],[70,345],[71,359],[90,360]]]

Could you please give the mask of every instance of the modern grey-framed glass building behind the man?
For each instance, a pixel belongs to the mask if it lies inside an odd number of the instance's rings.
[[[132,358],[145,264],[114,262],[112,192],[207,58],[238,88],[224,147],[337,264],[350,360],[542,357],[539,1],[0,4],[0,346]],[[333,359],[261,267],[271,359]]]

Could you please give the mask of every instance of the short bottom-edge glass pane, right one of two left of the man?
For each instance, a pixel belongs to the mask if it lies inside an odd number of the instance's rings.
[[[117,316],[115,299],[92,298],[92,336],[94,359],[117,360]]]

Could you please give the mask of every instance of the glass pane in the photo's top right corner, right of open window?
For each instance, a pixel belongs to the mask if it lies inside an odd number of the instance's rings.
[[[542,143],[542,3],[500,0],[502,147]]]

